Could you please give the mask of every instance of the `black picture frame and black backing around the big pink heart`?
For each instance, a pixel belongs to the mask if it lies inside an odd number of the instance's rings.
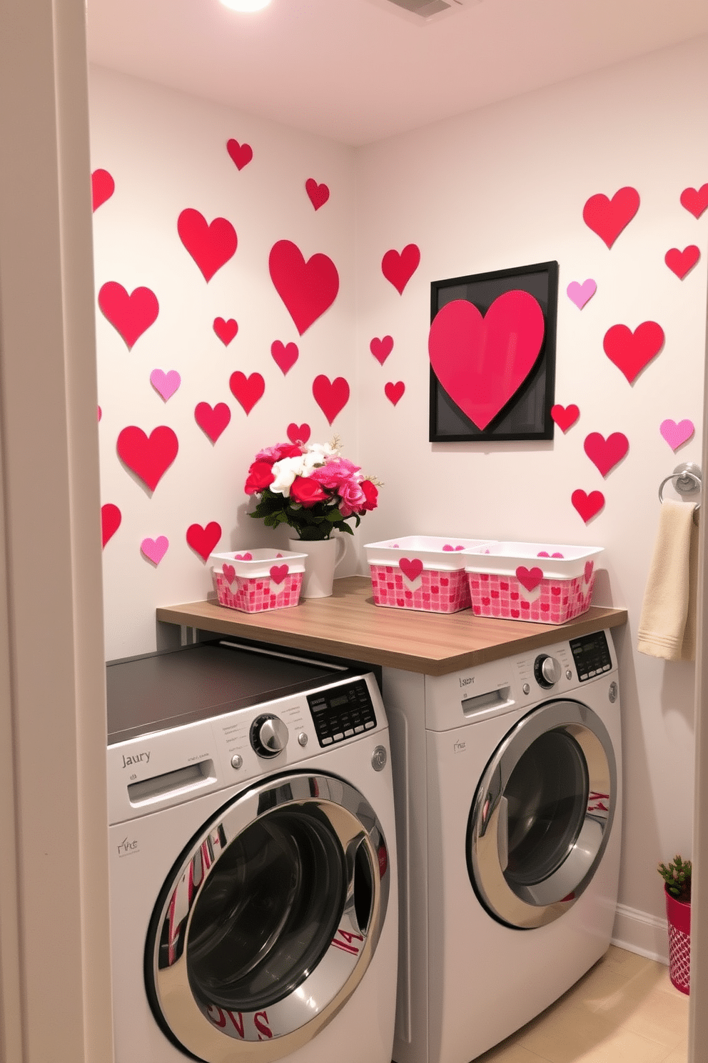
[[[551,406],[555,391],[557,261],[433,281],[430,285],[430,320],[432,323],[439,310],[455,299],[466,299],[485,315],[495,299],[513,290],[528,291],[543,313],[543,342],[533,369],[506,405],[482,429],[445,391],[431,366],[430,442],[553,439]]]

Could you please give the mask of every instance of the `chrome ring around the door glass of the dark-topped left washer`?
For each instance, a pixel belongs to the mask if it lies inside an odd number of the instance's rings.
[[[308,806],[328,821],[347,871],[344,909],[330,947],[294,992],[266,1009],[234,1013],[219,1005],[204,1006],[192,993],[187,955],[192,915],[209,875],[229,844],[257,820],[283,808],[307,812]],[[366,927],[359,926],[355,907],[355,867],[360,850],[370,868]],[[363,978],[383,928],[388,892],[387,847],[381,824],[352,786],[335,776],[292,773],[252,787],[221,809],[192,840],[160,894],[162,902],[155,908],[145,947],[149,996],[156,1017],[173,1040],[207,1063],[237,1058],[243,1063],[265,1063],[295,1051],[331,1022]],[[159,967],[166,926],[170,928],[170,962]]]

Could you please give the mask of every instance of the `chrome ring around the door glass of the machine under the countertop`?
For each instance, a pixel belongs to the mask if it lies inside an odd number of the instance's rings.
[[[588,773],[589,799],[574,843],[555,871],[513,889],[504,876],[504,789],[531,745],[560,731],[580,746]],[[511,927],[531,929],[563,915],[587,888],[602,860],[615,816],[617,762],[600,716],[580,702],[557,701],[533,709],[497,747],[477,788],[467,830],[470,880],[488,911]]]

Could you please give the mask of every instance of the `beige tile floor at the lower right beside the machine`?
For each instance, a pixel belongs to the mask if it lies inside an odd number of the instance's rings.
[[[669,968],[610,946],[580,982],[474,1063],[686,1063],[688,997]]]

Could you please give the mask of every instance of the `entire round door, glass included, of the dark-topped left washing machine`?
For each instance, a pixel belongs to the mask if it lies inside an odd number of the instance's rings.
[[[207,1063],[277,1060],[351,996],[386,913],[386,842],[358,790],[291,773],[205,824],[153,911],[145,985],[156,1019]]]

